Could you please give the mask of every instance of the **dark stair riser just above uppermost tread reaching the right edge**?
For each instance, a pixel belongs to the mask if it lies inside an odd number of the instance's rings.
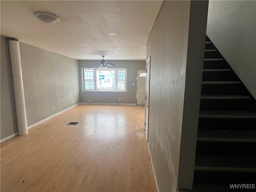
[[[250,99],[201,99],[200,110],[253,110],[253,105]]]

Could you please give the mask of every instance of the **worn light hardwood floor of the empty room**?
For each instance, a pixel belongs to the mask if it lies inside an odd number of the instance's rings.
[[[143,120],[144,106],[78,105],[7,140],[1,191],[156,192]]]

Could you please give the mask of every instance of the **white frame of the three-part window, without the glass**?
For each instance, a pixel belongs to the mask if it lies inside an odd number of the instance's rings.
[[[84,70],[93,70],[93,84],[94,89],[85,89],[85,78],[84,78]],[[97,80],[96,80],[96,74],[97,71],[102,70],[115,70],[115,89],[114,90],[103,90],[97,88]],[[125,71],[125,80],[124,80],[124,90],[118,90],[118,71]],[[82,74],[82,92],[125,92],[127,93],[127,68],[108,68],[108,69],[99,69],[99,68],[88,68],[88,67],[81,67],[81,74]]]

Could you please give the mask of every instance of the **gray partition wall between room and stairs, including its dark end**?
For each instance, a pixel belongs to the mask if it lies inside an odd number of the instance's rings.
[[[207,1],[165,1],[147,44],[148,144],[162,192],[192,184],[207,7]],[[179,163],[187,163],[189,173]]]

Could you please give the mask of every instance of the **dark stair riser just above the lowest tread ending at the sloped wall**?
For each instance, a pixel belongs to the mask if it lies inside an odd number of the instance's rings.
[[[201,94],[240,94],[247,95],[242,84],[202,84]]]

